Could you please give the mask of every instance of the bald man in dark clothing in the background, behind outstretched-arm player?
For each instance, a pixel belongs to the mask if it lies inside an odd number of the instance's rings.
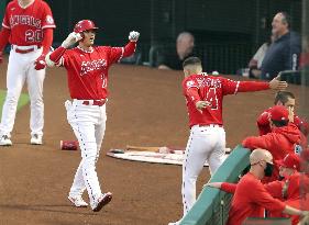
[[[157,68],[181,70],[184,60],[194,55],[194,35],[181,32],[176,40],[176,49],[165,49],[165,53],[158,56]]]

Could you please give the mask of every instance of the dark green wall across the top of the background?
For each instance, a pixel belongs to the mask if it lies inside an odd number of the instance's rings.
[[[199,42],[246,42],[261,44],[269,35],[277,11],[293,14],[300,30],[300,0],[46,0],[55,16],[55,41],[60,42],[74,24],[93,20],[101,27],[100,42],[122,43],[131,30],[142,42],[173,41],[191,31]]]

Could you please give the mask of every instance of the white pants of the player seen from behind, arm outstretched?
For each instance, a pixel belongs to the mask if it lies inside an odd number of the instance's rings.
[[[186,215],[196,202],[196,182],[206,161],[210,175],[222,165],[225,154],[225,132],[219,125],[191,127],[183,164],[183,204]]]

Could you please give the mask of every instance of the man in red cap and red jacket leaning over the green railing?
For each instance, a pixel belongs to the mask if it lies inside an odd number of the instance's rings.
[[[246,137],[242,145],[245,148],[264,148],[272,153],[275,160],[284,159],[287,154],[299,153],[300,131],[294,123],[289,123],[289,112],[283,105],[275,105],[269,110],[272,132],[262,136]],[[273,176],[264,179],[271,182],[279,178],[279,168],[275,166]]]

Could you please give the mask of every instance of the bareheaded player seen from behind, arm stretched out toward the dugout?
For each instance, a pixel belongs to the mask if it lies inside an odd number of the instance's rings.
[[[196,181],[208,161],[213,175],[223,161],[225,132],[222,122],[222,100],[227,94],[285,89],[287,83],[278,78],[271,82],[233,81],[202,72],[201,61],[197,57],[187,58],[184,64],[184,95],[187,100],[190,136],[187,143],[183,165],[183,204],[184,215],[196,202]],[[169,223],[178,224],[176,223]]]

